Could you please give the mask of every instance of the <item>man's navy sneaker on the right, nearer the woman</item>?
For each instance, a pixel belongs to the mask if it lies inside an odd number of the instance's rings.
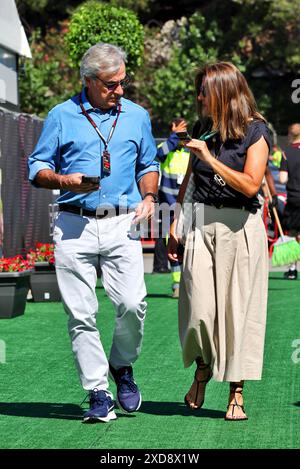
[[[131,366],[115,370],[109,365],[110,375],[117,385],[117,404],[125,413],[136,412],[141,407],[142,396],[134,379]]]

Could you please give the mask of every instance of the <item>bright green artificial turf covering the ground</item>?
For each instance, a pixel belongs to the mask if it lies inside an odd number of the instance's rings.
[[[132,416],[117,410],[119,418],[108,424],[81,422],[85,393],[60,303],[28,302],[23,316],[0,321],[0,340],[6,344],[6,363],[0,364],[0,447],[299,448],[300,281],[270,274],[263,379],[246,384],[245,422],[224,421],[227,383],[208,384],[200,411],[183,404],[194,370],[182,365],[171,279],[146,275],[146,283],[145,338],[134,366],[143,404]],[[108,351],[114,313],[103,288],[97,292],[99,329]]]

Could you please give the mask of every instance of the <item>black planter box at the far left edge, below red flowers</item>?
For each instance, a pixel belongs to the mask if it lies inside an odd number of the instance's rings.
[[[0,319],[24,314],[31,272],[0,272]]]

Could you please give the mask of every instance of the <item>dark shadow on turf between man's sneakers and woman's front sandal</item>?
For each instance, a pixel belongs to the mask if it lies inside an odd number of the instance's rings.
[[[197,409],[191,410],[184,404],[178,402],[154,402],[143,401],[139,410],[142,414],[153,415],[184,415],[184,416],[198,416],[212,419],[224,418],[225,412],[213,409]]]

